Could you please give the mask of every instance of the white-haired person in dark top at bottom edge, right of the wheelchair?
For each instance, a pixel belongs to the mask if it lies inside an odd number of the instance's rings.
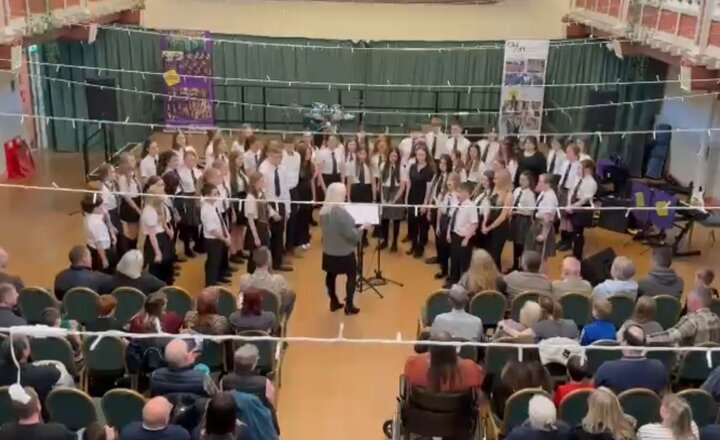
[[[505,440],[565,440],[568,427],[557,420],[552,400],[536,394],[528,402],[528,420],[510,431]]]

